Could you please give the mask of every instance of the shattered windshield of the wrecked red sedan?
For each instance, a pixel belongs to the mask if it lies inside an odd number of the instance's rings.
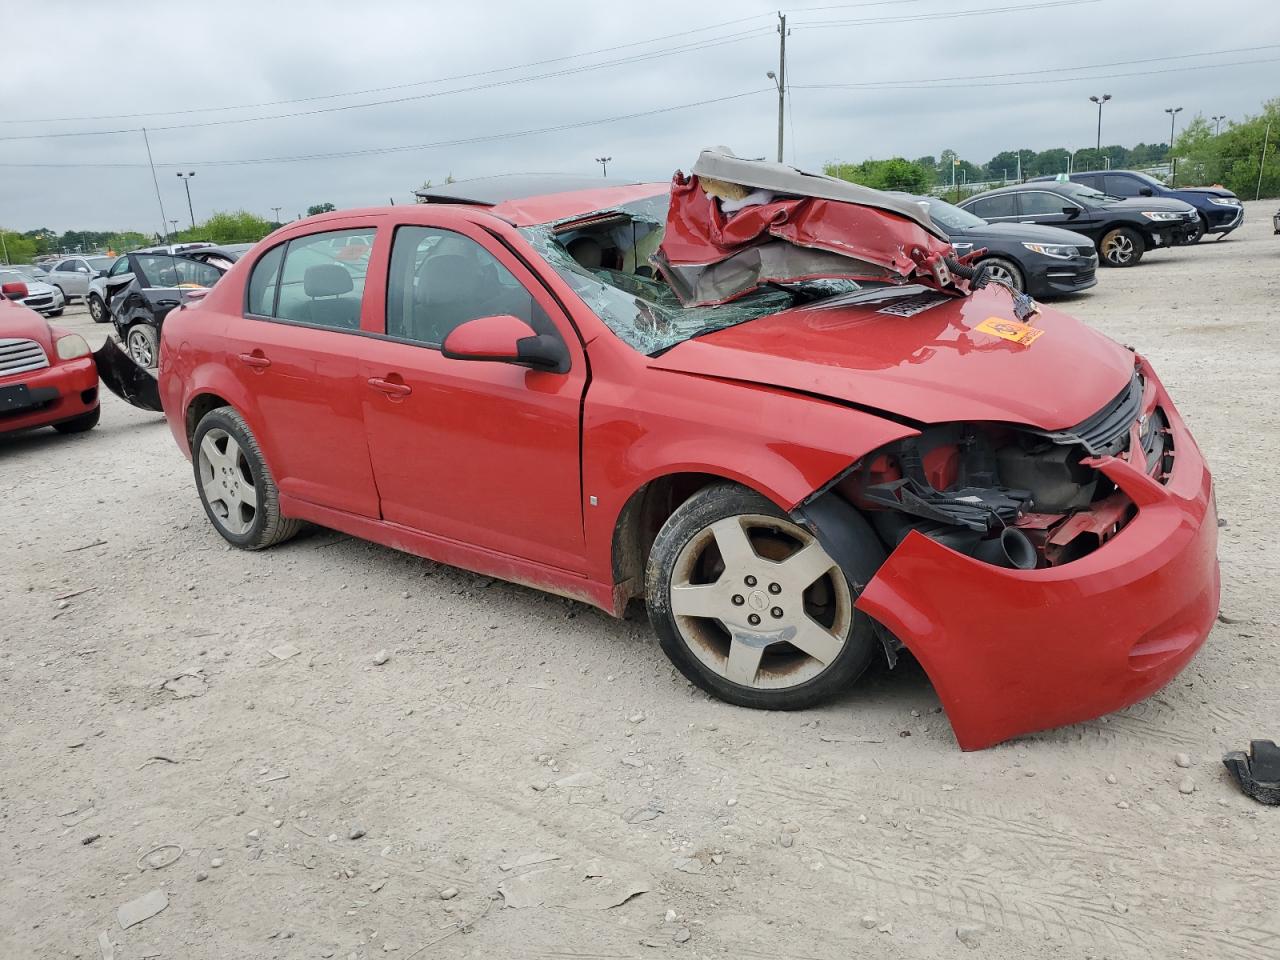
[[[669,198],[660,193],[613,210],[525,227],[521,233],[620,339],[650,356],[795,303],[859,289],[854,280],[812,280],[771,285],[731,303],[682,307],[649,262],[662,243]]]

